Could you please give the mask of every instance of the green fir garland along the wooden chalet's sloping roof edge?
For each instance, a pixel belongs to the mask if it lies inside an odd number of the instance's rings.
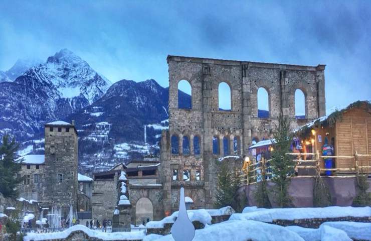
[[[323,118],[323,117],[320,117],[318,119],[315,119],[313,122],[313,124],[311,126],[302,126],[301,128],[299,128],[299,130],[297,130],[296,132],[296,136],[297,137],[300,137],[300,138],[308,138],[311,136],[311,130],[313,129],[313,127],[334,127],[335,126],[335,123],[336,121],[341,121],[342,117],[343,117],[343,114],[344,112],[350,110],[350,109],[354,109],[354,108],[359,108],[359,107],[362,107],[362,106],[365,106],[365,109],[368,111],[368,112],[371,112],[371,101],[362,101],[362,100],[358,100],[358,101],[355,101],[351,104],[349,104],[346,108],[343,108],[343,109],[340,109],[340,110],[335,110],[334,112],[332,112],[331,114],[329,114],[326,118]]]

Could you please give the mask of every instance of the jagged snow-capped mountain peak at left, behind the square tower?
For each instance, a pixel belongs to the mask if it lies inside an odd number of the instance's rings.
[[[37,137],[46,122],[89,105],[110,84],[80,57],[63,49],[14,82],[0,83],[0,135],[11,133],[18,140]]]

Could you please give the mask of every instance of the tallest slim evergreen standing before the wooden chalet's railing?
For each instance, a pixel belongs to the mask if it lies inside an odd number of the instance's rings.
[[[291,205],[291,198],[288,194],[290,177],[294,174],[295,162],[292,157],[286,155],[290,152],[292,134],[290,132],[290,122],[287,117],[280,115],[278,126],[276,126],[273,137],[276,140],[274,151],[272,152],[271,169],[272,182],[276,201],[279,207]]]

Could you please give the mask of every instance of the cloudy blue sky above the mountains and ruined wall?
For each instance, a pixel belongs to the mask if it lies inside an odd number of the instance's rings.
[[[0,70],[68,48],[112,82],[166,56],[326,64],[326,107],[371,99],[371,1],[2,1]]]

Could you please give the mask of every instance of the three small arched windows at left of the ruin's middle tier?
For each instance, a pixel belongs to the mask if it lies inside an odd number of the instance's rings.
[[[190,138],[188,136],[183,136],[181,139],[181,154],[182,155],[200,155],[201,145],[200,137],[195,136],[193,138],[193,148],[191,148]],[[193,150],[191,150],[193,149]],[[171,154],[179,154],[179,138],[176,135],[171,136]]]

